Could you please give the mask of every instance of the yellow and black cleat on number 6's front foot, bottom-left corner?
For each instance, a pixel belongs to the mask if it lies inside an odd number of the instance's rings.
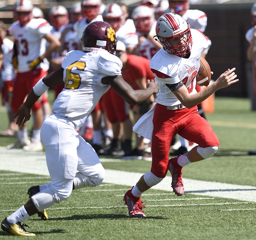
[[[36,236],[34,233],[27,232],[24,228],[28,227],[26,224],[22,224],[20,222],[17,223],[9,223],[7,221],[7,218],[5,218],[2,221],[1,228],[8,233],[11,233],[12,235],[18,235],[18,236]]]

